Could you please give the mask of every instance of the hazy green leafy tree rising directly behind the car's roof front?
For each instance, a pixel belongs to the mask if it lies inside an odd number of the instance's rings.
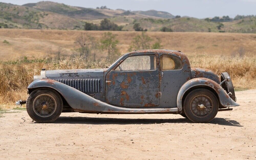
[[[128,50],[148,49],[150,48],[150,41],[152,41],[152,39],[146,34],[146,32],[142,32],[141,35],[137,35],[133,38]]]

